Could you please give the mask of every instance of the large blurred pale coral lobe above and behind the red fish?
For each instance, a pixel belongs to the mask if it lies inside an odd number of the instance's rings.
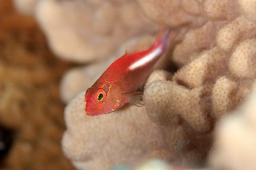
[[[16,2],[22,11],[29,3]],[[69,61],[89,62],[109,57],[126,39],[156,29],[136,1],[35,2],[34,14],[50,48]]]

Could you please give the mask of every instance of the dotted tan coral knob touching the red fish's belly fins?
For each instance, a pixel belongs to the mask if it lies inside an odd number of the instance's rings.
[[[204,95],[202,88],[189,90],[172,81],[154,81],[146,87],[144,101],[147,113],[154,122],[177,126],[178,118],[182,117],[198,132],[207,132],[210,122],[203,108],[206,101],[200,98]],[[170,102],[166,97],[175,101]]]

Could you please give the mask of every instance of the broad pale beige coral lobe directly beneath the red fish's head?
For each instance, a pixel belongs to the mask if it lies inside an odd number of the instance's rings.
[[[113,114],[89,117],[84,94],[79,93],[65,109],[67,130],[62,140],[63,151],[77,168],[109,169],[159,156],[171,160],[162,130],[150,121],[145,108],[126,105]]]

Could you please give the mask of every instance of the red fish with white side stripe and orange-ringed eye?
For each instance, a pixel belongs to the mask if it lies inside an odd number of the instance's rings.
[[[134,102],[137,90],[146,81],[155,62],[166,51],[170,32],[159,31],[150,49],[125,53],[114,61],[94,85],[87,89],[86,114],[96,116],[111,113],[126,103]]]

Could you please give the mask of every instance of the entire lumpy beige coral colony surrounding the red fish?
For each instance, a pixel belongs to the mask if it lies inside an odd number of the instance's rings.
[[[157,159],[170,164],[162,169],[256,169],[256,0],[14,3],[58,57],[81,64],[60,85],[62,150],[76,168]],[[86,116],[86,89],[126,45],[152,44],[158,22],[178,36],[146,81],[144,107]]]

